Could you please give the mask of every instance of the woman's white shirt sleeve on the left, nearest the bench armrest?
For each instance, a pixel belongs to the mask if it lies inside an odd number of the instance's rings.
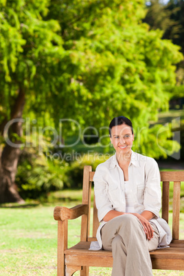
[[[113,210],[113,205],[108,198],[108,170],[100,164],[95,170],[94,181],[94,192],[95,192],[95,203],[97,207],[97,217],[101,222],[108,211]]]

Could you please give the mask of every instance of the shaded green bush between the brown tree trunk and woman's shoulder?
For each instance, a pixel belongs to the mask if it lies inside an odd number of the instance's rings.
[[[24,149],[19,160],[16,174],[16,185],[19,194],[24,198],[38,199],[47,196],[48,192],[60,189],[82,188],[84,165],[98,164],[106,161],[110,154],[80,154],[79,159],[71,161],[47,159],[33,148]]]

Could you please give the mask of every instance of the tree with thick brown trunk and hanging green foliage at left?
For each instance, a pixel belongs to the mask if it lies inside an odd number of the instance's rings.
[[[54,78],[59,77],[59,72],[55,75],[56,70],[53,74],[51,71],[60,67],[65,52],[62,39],[57,34],[60,29],[58,23],[42,19],[47,14],[48,3],[47,0],[0,2],[1,135],[7,123],[14,120],[8,133],[14,146],[10,143],[1,146],[1,203],[22,202],[14,179],[21,154],[19,144],[25,101],[37,102],[40,107],[38,113],[45,109],[44,102],[51,97],[50,87],[55,85]]]

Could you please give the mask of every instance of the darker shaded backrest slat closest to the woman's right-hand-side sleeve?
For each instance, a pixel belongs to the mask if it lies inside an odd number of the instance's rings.
[[[162,186],[162,215],[161,217],[169,222],[169,205],[170,205],[170,182],[163,181]]]

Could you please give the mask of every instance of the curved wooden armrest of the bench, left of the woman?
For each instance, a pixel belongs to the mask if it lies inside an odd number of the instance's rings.
[[[55,207],[54,208],[54,219],[55,220],[73,220],[82,215],[88,214],[88,205],[80,204],[72,208],[67,207]]]

